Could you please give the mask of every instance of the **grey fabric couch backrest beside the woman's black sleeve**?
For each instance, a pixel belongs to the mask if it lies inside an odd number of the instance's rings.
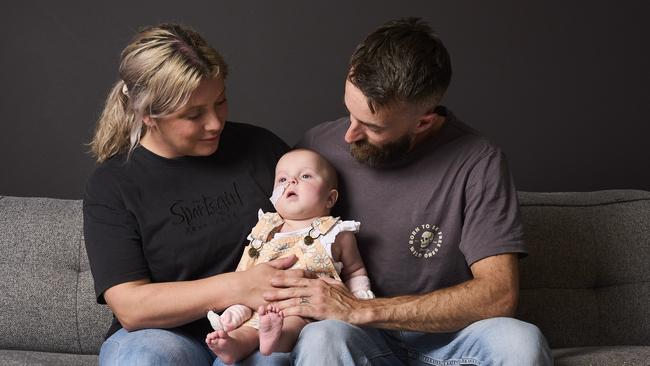
[[[81,201],[0,198],[0,348],[97,353],[110,324],[97,305]]]

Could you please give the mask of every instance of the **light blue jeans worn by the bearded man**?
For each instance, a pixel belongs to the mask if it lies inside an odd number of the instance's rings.
[[[539,329],[492,318],[454,333],[360,328],[337,320],[308,324],[293,352],[256,353],[237,365],[553,365]],[[215,360],[214,365],[222,365]]]

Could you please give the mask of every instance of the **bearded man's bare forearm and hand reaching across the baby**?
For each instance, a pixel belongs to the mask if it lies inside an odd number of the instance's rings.
[[[285,316],[421,332],[452,332],[478,320],[512,316],[519,295],[517,255],[487,257],[470,269],[474,278],[453,287],[373,300],[356,299],[335,281],[301,278],[285,271],[271,284],[286,288],[267,292],[264,298],[278,301]]]

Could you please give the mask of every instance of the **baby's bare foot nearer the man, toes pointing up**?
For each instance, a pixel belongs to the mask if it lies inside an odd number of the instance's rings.
[[[284,317],[274,305],[260,306],[260,353],[291,352],[307,321],[299,316]]]

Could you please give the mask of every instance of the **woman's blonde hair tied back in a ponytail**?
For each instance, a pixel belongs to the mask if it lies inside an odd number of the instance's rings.
[[[165,117],[189,100],[202,78],[226,78],[228,66],[195,31],[161,24],[138,32],[122,51],[120,80],[106,98],[90,150],[98,163],[131,154],[144,116]]]

